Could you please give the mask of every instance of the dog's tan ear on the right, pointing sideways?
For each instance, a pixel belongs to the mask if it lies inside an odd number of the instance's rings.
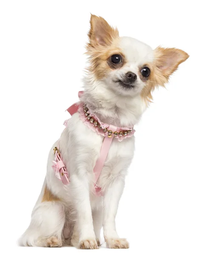
[[[178,65],[186,61],[189,55],[176,48],[157,47],[154,50],[155,65],[166,79],[178,68]]]

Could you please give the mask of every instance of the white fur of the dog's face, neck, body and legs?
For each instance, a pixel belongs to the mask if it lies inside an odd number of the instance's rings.
[[[153,61],[152,49],[133,38],[121,38],[120,46],[127,57],[127,64],[121,70],[113,70],[104,80],[96,80],[88,74],[84,80],[86,102],[102,122],[117,126],[135,125],[146,108],[140,91],[144,83],[138,77],[137,86],[129,92],[116,88],[113,78],[132,71],[138,73],[139,65]],[[96,197],[93,167],[99,157],[103,137],[91,131],[75,113],[68,121],[59,140],[51,147],[48,157],[45,183],[53,194],[62,201],[42,202],[41,195],[33,209],[31,224],[20,239],[20,244],[47,246],[44,239],[52,236],[62,241],[69,238],[77,246],[96,248],[103,225],[108,247],[121,243],[128,247],[125,239],[119,239],[116,232],[115,216],[124,188],[124,178],[134,152],[134,137],[122,142],[113,140],[108,157],[98,180],[104,197]],[[67,166],[70,184],[64,186],[51,168],[54,160],[53,147],[58,146]],[[103,216],[103,217],[102,217]],[[64,228],[64,231],[63,231]]]

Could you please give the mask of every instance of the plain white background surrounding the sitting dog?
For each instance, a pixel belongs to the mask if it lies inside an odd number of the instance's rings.
[[[130,249],[18,247],[64,111],[78,100],[90,12],[190,58],[136,126],[116,219]],[[0,1],[1,255],[215,255],[214,23],[207,0]]]

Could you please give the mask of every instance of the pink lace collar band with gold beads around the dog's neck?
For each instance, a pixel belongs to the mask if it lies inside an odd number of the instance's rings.
[[[93,114],[86,104],[83,102],[78,102],[76,104],[76,112],[79,112],[80,119],[87,125],[91,130],[97,132],[97,134],[102,135],[104,137],[108,136],[111,138],[114,136],[117,140],[122,141],[125,138],[132,137],[135,133],[134,128],[128,127],[116,127],[116,131],[112,131],[108,129],[110,125],[103,123],[99,120],[99,118]],[[74,107],[74,105],[72,105]],[[71,107],[72,107],[71,106]],[[70,107],[70,108],[71,108]],[[68,108],[68,112],[70,112],[70,108]],[[64,122],[64,125],[67,126],[68,120]]]

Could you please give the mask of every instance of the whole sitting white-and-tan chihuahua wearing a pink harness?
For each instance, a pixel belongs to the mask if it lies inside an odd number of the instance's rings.
[[[50,151],[41,194],[20,238],[24,246],[60,247],[69,241],[96,249],[103,226],[107,247],[129,247],[116,232],[115,217],[133,158],[133,126],[154,88],[164,86],[189,57],[180,49],[153,50],[119,37],[102,17],[91,15],[90,23],[84,93]]]

